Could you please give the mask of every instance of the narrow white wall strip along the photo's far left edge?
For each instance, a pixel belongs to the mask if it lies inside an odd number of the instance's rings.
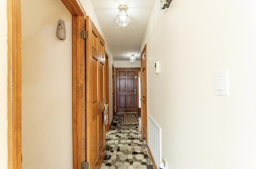
[[[7,169],[7,5],[0,1],[0,168]]]

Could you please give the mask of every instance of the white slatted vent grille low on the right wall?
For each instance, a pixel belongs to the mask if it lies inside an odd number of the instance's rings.
[[[161,160],[161,129],[150,116],[148,116],[148,147],[159,168]]]

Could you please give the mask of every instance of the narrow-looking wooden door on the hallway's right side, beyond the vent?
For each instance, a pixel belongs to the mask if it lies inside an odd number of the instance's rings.
[[[148,112],[147,112],[147,44],[141,55],[141,130],[147,140]]]

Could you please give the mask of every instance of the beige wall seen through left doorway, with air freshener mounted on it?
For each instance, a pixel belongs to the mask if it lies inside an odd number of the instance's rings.
[[[73,165],[72,16],[59,3],[58,12],[22,41],[23,169],[72,169]],[[64,41],[56,37],[59,19],[66,25]]]

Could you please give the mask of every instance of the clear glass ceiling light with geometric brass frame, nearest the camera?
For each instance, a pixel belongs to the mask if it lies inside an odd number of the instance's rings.
[[[121,27],[126,27],[132,22],[132,18],[127,13],[127,6],[119,6],[119,12],[116,16],[115,22]]]

